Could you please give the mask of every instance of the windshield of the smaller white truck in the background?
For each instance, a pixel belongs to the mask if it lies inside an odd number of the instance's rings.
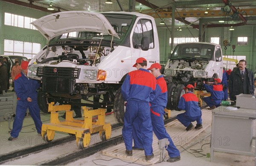
[[[170,59],[200,59],[210,60],[214,53],[214,45],[180,44],[175,47]]]

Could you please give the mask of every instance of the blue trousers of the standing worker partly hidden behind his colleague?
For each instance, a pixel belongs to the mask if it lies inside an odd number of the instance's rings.
[[[174,145],[172,138],[166,132],[166,128],[164,127],[164,122],[163,122],[163,115],[165,114],[163,107],[154,107],[151,108],[151,121],[152,121],[152,127],[154,134],[157,136],[158,140],[161,140],[163,138],[167,138],[168,141],[170,142],[168,147],[167,147],[167,152],[168,155],[173,158],[180,156],[180,151],[176,148]],[[137,120],[137,119],[136,119]],[[134,123],[134,129],[133,129],[133,137],[134,137],[134,147],[136,148],[143,148],[142,146],[142,136],[140,134],[140,130],[138,127],[137,121]]]

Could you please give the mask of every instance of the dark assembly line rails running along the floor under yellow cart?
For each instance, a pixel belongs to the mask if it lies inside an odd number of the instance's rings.
[[[171,121],[174,121],[176,117],[173,118],[169,118],[164,120],[164,123],[167,124]],[[113,124],[112,125],[112,130],[113,129],[118,129],[119,127],[122,127],[123,124],[119,123],[119,124]],[[10,160],[15,160],[15,159],[20,159],[23,157],[26,157],[27,155],[30,154],[35,154],[35,153],[39,153],[43,150],[46,150],[50,147],[53,146],[58,146],[70,141],[75,141],[76,137],[73,136],[67,136],[65,138],[60,138],[58,140],[49,142],[49,143],[43,143],[37,146],[33,146],[33,147],[29,147],[26,149],[22,149],[22,150],[18,150],[18,151],[14,151],[14,152],[10,152],[6,155],[1,155],[0,156],[0,165],[3,165],[4,163],[10,161]],[[118,135],[116,137],[110,138],[109,140],[105,141],[105,142],[99,142],[99,143],[95,143],[91,146],[88,146],[85,149],[78,149],[76,152],[74,153],[70,153],[68,155],[63,155],[63,156],[59,156],[58,158],[54,159],[54,160],[46,160],[44,163],[38,163],[38,165],[64,165],[66,163],[70,163],[73,162],[75,160],[79,160],[81,158],[93,155],[94,153],[108,148],[109,146],[113,146],[116,144],[122,143],[122,135]]]

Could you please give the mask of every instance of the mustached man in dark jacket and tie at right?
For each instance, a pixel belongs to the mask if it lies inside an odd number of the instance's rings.
[[[254,78],[253,72],[246,68],[244,59],[239,61],[239,67],[230,73],[228,82],[230,100],[236,101],[236,95],[254,94]]]

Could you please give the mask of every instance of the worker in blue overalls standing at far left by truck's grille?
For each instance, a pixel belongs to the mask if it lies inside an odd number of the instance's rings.
[[[8,138],[9,141],[17,139],[28,108],[29,113],[35,122],[35,128],[38,135],[41,135],[42,121],[40,117],[40,108],[38,107],[38,93],[36,91],[40,87],[40,84],[37,80],[29,79],[26,76],[28,64],[29,62],[27,61],[21,62],[21,73],[14,79],[14,88],[18,101],[11,136]]]

